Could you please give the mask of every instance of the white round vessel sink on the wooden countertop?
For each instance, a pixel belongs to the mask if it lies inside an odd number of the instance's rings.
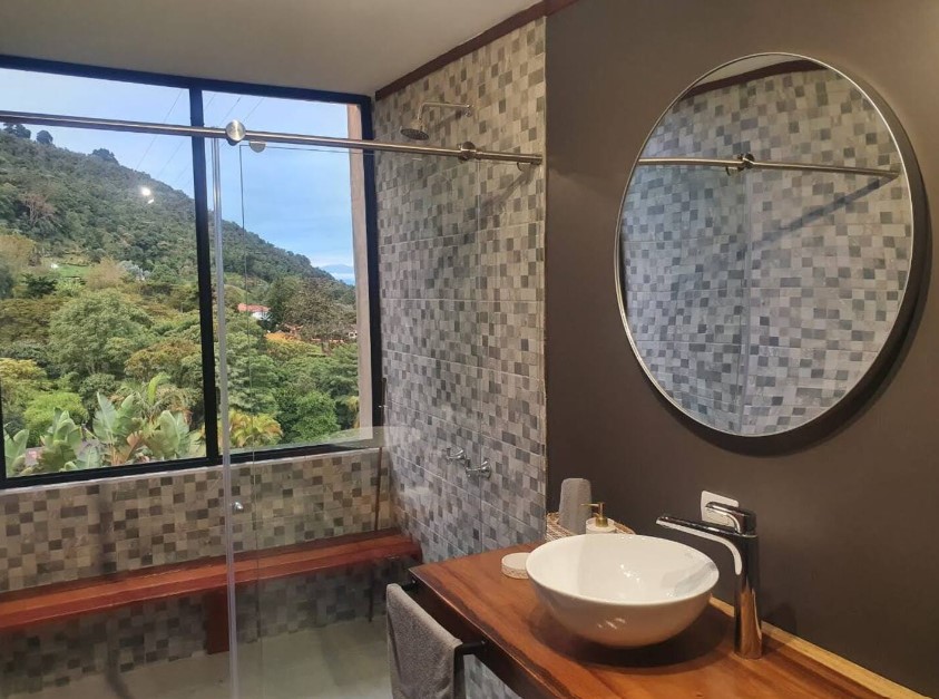
[[[538,598],[568,631],[604,645],[658,643],[707,605],[717,566],[666,538],[583,534],[536,548],[526,563]]]

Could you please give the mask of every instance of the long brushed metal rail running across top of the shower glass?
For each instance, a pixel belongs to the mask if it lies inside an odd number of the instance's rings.
[[[98,119],[91,117],[59,116],[55,114],[35,114],[29,111],[0,111],[0,122],[8,124],[35,124],[39,126],[63,126],[69,128],[92,128],[136,134],[157,134],[160,136],[200,136],[203,138],[226,138],[226,129],[212,126],[174,126],[150,122],[125,122],[120,119]],[[234,123],[233,123],[234,124]],[[376,151],[383,153],[409,153],[412,155],[440,155],[462,161],[496,161],[540,165],[542,157],[534,153],[505,153],[500,151],[479,151],[472,144],[457,148],[420,146],[415,144],[388,143],[382,140],[362,140],[359,138],[334,138],[332,136],[304,136],[302,134],[278,134],[274,132],[243,130],[237,140],[262,140],[352,151]]]

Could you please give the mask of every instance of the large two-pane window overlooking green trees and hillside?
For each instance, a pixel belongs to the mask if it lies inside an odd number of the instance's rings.
[[[0,109],[238,119],[255,130],[345,137],[359,135],[365,104],[58,70],[0,69]],[[7,485],[218,462],[205,147],[178,136],[0,124]],[[224,146],[229,437],[245,457],[329,450],[371,424],[354,163],[346,153]]]

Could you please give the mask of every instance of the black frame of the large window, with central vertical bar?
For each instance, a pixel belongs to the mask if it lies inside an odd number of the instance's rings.
[[[189,97],[189,123],[192,126],[204,126],[203,95],[212,93],[232,93],[257,97],[277,97],[301,101],[320,101],[343,104],[359,108],[361,117],[362,138],[374,138],[372,120],[372,98],[368,95],[340,93],[311,88],[286,87],[276,85],[261,85],[254,82],[238,82],[217,80],[214,78],[184,77],[159,72],[128,70],[124,68],[107,68],[102,66],[86,66],[62,61],[23,58],[19,56],[0,55],[0,69],[29,70],[48,72],[76,78],[94,78],[101,80],[117,80],[138,85],[173,87],[186,89]],[[193,198],[195,208],[196,264],[198,268],[199,292],[199,330],[203,367],[203,399],[205,401],[205,445],[206,455],[198,458],[185,458],[167,462],[151,462],[147,464],[126,464],[107,466],[87,470],[59,472],[55,474],[36,474],[30,476],[7,476],[6,466],[0,469],[0,492],[45,484],[77,483],[119,478],[150,473],[175,472],[187,468],[212,467],[222,465],[218,449],[218,400],[215,385],[215,337],[213,327],[213,279],[212,258],[209,252],[208,230],[208,179],[206,167],[205,138],[190,137],[193,147]],[[378,195],[375,190],[375,164],[373,157],[363,158],[363,187],[365,204],[365,258],[369,284],[369,356],[371,363],[371,395],[372,425],[381,426],[382,419],[382,362],[381,362],[381,317],[379,300],[379,260],[378,260]],[[3,424],[0,407],[0,426]],[[361,448],[358,445],[317,444],[310,446],[271,447],[255,452],[232,454],[233,464],[253,460],[267,460],[299,456],[314,456],[320,454],[336,454]],[[4,459],[6,460],[6,459]]]

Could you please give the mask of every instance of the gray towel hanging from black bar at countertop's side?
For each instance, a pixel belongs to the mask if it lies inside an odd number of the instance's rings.
[[[461,643],[437,623],[401,585],[389,585],[388,662],[394,699],[462,699]]]

